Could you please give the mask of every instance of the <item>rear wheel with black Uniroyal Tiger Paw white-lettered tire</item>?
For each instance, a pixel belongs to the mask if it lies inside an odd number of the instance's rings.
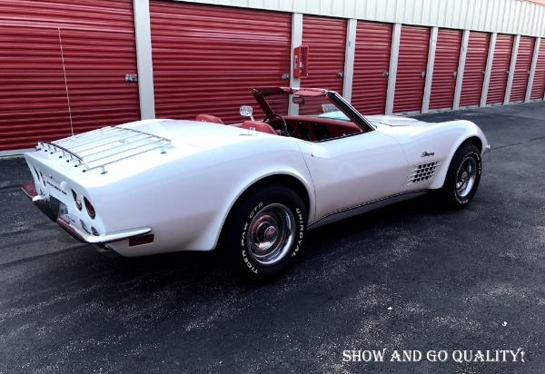
[[[284,186],[249,192],[233,206],[220,240],[230,270],[264,281],[290,269],[301,251],[307,212],[301,198]]]

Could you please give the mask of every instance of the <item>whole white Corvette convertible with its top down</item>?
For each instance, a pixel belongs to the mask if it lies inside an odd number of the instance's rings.
[[[242,106],[242,123],[203,114],[40,142],[25,153],[34,181],[23,190],[103,251],[218,248],[254,279],[286,271],[307,229],[426,192],[463,207],[477,191],[489,145],[474,123],[363,117],[322,89],[253,96],[263,121]]]

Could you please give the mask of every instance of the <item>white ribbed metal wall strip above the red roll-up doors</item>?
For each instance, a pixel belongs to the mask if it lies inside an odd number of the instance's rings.
[[[185,1],[185,0],[184,0]],[[545,6],[518,0],[189,0],[386,23],[545,36]]]

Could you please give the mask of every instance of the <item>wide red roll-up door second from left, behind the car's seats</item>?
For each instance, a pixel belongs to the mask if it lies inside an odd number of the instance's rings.
[[[150,12],[157,117],[241,122],[254,87],[289,85],[292,15],[162,1]]]

